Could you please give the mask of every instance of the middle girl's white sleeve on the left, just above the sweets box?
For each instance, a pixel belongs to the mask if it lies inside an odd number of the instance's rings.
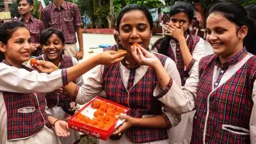
[[[98,65],[87,73],[88,77],[84,79],[84,84],[77,92],[77,104],[85,104],[103,91],[103,72],[104,65]]]

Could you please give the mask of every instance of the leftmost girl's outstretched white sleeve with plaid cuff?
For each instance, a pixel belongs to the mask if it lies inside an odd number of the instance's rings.
[[[47,93],[68,84],[67,69],[45,74],[4,63],[0,63],[0,81],[0,91],[17,93]]]

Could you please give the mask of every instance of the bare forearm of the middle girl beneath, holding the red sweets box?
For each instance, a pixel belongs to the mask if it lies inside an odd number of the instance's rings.
[[[167,128],[166,122],[161,115],[148,118],[134,118],[132,127]]]

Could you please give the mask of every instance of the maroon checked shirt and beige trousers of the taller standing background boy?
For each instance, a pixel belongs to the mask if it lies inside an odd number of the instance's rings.
[[[63,32],[65,38],[65,54],[76,57],[76,29],[83,26],[81,14],[77,4],[63,1],[60,6],[49,4],[43,10],[46,28],[55,28]]]

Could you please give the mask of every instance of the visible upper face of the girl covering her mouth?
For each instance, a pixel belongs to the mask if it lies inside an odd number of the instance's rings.
[[[177,28],[180,28],[181,23],[183,23],[183,28],[184,28],[183,31],[185,32],[189,26],[189,19],[186,13],[180,12],[170,17],[169,25],[173,25],[173,26],[176,26]]]

